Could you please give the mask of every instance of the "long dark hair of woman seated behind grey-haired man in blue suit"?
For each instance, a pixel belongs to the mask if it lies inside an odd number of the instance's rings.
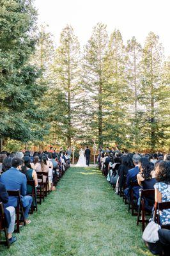
[[[154,165],[150,163],[147,157],[141,157],[139,159],[139,170],[141,176],[147,180],[151,179],[151,171],[154,170]]]

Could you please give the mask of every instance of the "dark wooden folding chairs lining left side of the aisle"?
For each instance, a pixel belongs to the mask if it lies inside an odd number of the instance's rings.
[[[63,176],[63,174],[66,172],[66,170],[69,168],[69,164],[64,166],[63,164],[59,166],[58,170],[54,170],[53,172],[53,184],[54,186],[57,186],[59,180]],[[43,180],[43,177],[45,177],[45,182]],[[31,205],[30,209],[30,214],[33,214],[34,211],[38,211],[38,204],[42,204],[42,202],[45,201],[45,197],[50,194],[50,189],[49,189],[49,177],[48,173],[45,172],[37,172],[37,178],[38,178],[38,186],[35,186],[35,181],[34,180],[27,180],[27,185],[32,187],[32,193],[29,194],[33,197],[33,204]],[[9,196],[15,196],[17,197],[17,206],[15,207],[15,212],[16,212],[16,221],[15,221],[15,230],[14,232],[19,233],[20,232],[20,227],[26,225],[26,220],[24,218],[24,209],[22,206],[22,201],[21,201],[21,196],[20,196],[20,191],[16,190],[7,190]],[[20,225],[20,218],[22,218],[23,224]],[[0,244],[5,244],[8,248],[10,248],[10,242],[8,240],[8,229],[6,228],[5,225],[5,217],[4,217],[4,207],[3,203],[0,202],[0,238],[1,238],[1,233],[4,232],[4,240],[0,241]]]

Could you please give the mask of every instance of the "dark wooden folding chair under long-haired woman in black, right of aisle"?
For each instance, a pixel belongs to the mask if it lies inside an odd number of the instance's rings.
[[[139,222],[142,222],[143,231],[145,228],[145,223],[148,223],[148,220],[145,220],[146,212],[148,212],[147,215],[150,215],[151,212],[146,211],[145,209],[145,202],[144,198],[147,198],[147,196],[155,196],[155,189],[140,189],[139,190],[139,208],[138,208],[138,214],[137,214],[137,225],[139,225]],[[142,217],[142,220],[140,220],[140,216]]]

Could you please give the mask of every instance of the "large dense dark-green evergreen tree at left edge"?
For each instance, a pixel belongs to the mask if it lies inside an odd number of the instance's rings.
[[[46,89],[29,64],[37,39],[32,2],[2,0],[0,9],[0,136],[20,141],[42,140],[47,132],[39,102]]]

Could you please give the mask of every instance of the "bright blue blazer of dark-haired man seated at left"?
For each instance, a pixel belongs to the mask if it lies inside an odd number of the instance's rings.
[[[26,207],[29,204],[28,199],[25,198],[27,193],[27,178],[24,173],[12,167],[1,175],[1,182],[3,182],[6,190],[19,189],[23,206]],[[5,207],[8,206],[17,206],[16,196],[9,196],[8,203],[5,204]]]

